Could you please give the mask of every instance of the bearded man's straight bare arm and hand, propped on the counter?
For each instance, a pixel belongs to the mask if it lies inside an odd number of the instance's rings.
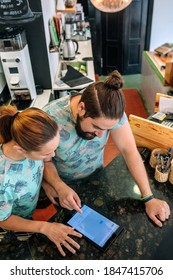
[[[129,123],[125,123],[117,130],[111,131],[112,139],[123,155],[128,169],[138,185],[141,195],[152,194],[148,176],[142,158],[137,150]],[[146,212],[155,224],[162,227],[162,222],[169,218],[169,205],[159,199],[152,199],[145,203]],[[161,222],[162,221],[162,222]]]

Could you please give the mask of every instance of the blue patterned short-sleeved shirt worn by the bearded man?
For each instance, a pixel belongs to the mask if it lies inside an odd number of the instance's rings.
[[[44,107],[44,111],[59,125],[60,143],[53,162],[62,179],[70,181],[81,179],[103,166],[103,153],[109,130],[104,131],[101,138],[85,140],[79,137],[75,130],[76,121],[70,109],[70,96],[50,102]],[[127,116],[124,113],[112,130],[119,128],[125,122]]]

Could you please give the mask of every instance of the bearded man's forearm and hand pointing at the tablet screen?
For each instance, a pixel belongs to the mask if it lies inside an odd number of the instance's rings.
[[[79,213],[81,213],[81,201],[77,193],[67,186],[59,177],[58,172],[56,170],[55,165],[52,161],[45,161],[44,163],[44,180],[43,181],[43,188],[45,189],[45,192],[49,193],[49,185],[50,188],[52,187],[59,198],[60,205],[64,208],[67,208],[69,210],[76,210]],[[48,195],[49,197],[49,195]],[[53,200],[52,200],[53,202]]]

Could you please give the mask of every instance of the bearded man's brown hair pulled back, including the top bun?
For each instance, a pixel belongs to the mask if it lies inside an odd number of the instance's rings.
[[[85,103],[85,117],[121,119],[125,110],[122,87],[123,79],[117,70],[104,81],[89,85],[80,99],[80,102]]]

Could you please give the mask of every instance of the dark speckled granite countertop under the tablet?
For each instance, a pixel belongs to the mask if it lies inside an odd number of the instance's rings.
[[[155,197],[166,200],[173,209],[173,185],[158,183],[154,170],[146,164]],[[87,180],[71,185],[83,203],[105,214],[125,227],[125,232],[106,252],[82,238],[77,239],[80,250],[75,255],[66,251],[63,258],[56,246],[41,235],[33,235],[27,242],[1,245],[0,259],[34,260],[152,260],[173,259],[173,217],[163,228],[155,226],[147,217],[140,201],[138,188],[132,179],[124,159],[119,155],[106,168]],[[62,221],[67,210],[59,207],[52,220]]]

